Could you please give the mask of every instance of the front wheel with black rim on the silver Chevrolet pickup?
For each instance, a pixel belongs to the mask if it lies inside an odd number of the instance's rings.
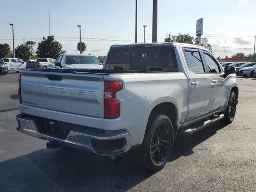
[[[228,105],[226,106],[226,110],[225,110],[225,114],[224,114],[225,117],[222,120],[223,122],[226,122],[226,123],[233,122],[235,115],[236,115],[236,105],[237,105],[236,94],[232,91],[230,93],[230,96],[228,99]]]

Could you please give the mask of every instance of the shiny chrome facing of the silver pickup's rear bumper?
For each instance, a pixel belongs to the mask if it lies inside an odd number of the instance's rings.
[[[38,129],[36,127],[36,123],[32,118],[18,115],[16,116],[16,120],[20,122],[19,132],[40,138],[43,140],[55,140],[57,142],[60,142],[60,144],[71,144],[74,146],[80,146],[85,147],[89,149],[91,152],[94,152],[96,154],[99,154],[94,150],[94,148],[91,145],[91,138],[98,139],[98,140],[114,140],[119,138],[124,138],[126,140],[126,144],[124,144],[124,148],[122,152],[117,153],[111,153],[111,154],[119,154],[128,151],[131,148],[131,138],[129,134],[125,131],[121,132],[115,132],[115,133],[98,133],[98,132],[92,132],[81,129],[73,128],[70,130],[66,140],[55,138],[52,136],[48,136],[45,134],[42,134],[38,132]],[[99,155],[110,155],[110,154],[99,154]]]

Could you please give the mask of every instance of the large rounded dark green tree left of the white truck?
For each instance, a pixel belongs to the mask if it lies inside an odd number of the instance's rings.
[[[60,54],[64,53],[61,49],[62,45],[54,40],[54,36],[43,37],[43,40],[38,43],[36,55],[39,58],[57,59]]]

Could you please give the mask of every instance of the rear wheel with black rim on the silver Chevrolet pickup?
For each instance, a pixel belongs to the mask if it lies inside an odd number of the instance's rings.
[[[173,135],[172,122],[168,116],[151,114],[142,146],[133,151],[136,164],[152,171],[162,169],[172,152]]]

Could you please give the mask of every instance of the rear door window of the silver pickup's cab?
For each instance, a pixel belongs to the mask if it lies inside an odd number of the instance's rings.
[[[204,73],[202,57],[198,49],[184,48],[188,68],[194,73]]]

